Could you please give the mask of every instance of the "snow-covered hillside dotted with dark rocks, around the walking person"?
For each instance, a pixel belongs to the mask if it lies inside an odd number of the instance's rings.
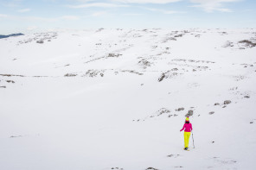
[[[0,39],[0,169],[255,169],[254,46],[256,28]]]

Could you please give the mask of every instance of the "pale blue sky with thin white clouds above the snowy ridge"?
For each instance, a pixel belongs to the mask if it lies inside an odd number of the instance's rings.
[[[0,0],[0,35],[51,28],[256,28],[256,1]]]

